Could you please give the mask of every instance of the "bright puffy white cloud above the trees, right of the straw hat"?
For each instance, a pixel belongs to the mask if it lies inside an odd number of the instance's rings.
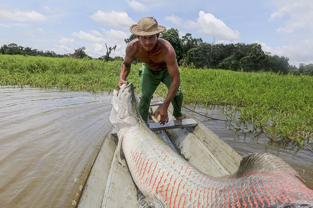
[[[202,34],[208,34],[227,40],[240,39],[238,30],[230,29],[222,20],[216,18],[211,13],[200,11],[197,22],[192,20],[183,20],[175,15],[167,16],[165,20],[186,29],[196,29]]]

